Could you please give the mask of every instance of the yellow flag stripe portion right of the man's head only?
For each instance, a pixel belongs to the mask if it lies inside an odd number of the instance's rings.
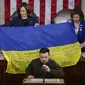
[[[61,67],[76,65],[81,56],[80,44],[74,43],[51,48],[52,59]]]

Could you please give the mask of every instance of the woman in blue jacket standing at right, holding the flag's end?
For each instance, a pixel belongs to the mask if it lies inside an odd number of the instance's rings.
[[[71,13],[72,24],[75,28],[82,52],[85,52],[85,21],[80,8],[75,8]]]

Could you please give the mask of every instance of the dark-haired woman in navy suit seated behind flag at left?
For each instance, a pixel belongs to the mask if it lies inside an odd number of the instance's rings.
[[[22,26],[36,26],[38,25],[37,17],[31,12],[28,4],[23,2],[18,10],[17,17],[14,17],[7,26],[22,27]]]

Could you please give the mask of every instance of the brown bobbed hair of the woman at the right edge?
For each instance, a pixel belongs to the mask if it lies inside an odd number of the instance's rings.
[[[71,19],[72,19],[72,22],[73,22],[73,15],[75,14],[78,14],[80,16],[80,20],[79,21],[82,21],[84,20],[84,14],[82,12],[82,10],[80,8],[74,8],[71,12]]]

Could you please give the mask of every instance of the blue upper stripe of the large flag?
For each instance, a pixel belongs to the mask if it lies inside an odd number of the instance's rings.
[[[37,27],[0,27],[0,49],[34,50],[77,42],[71,23],[42,25]]]

